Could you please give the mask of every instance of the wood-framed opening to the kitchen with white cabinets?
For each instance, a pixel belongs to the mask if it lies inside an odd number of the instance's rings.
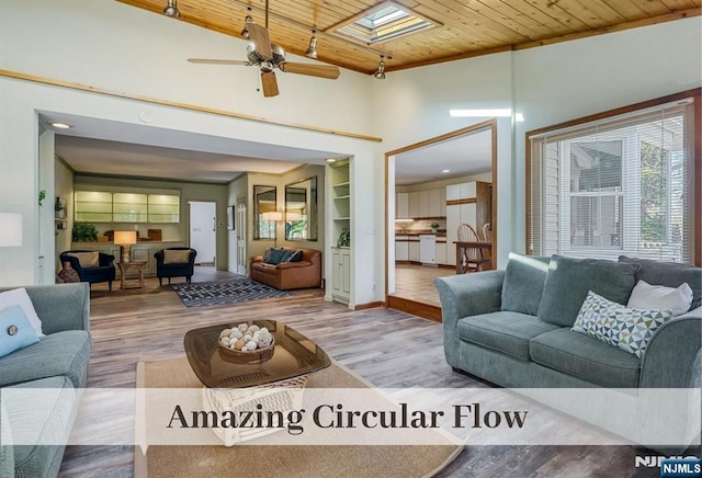
[[[385,179],[386,304],[440,321],[433,278],[463,264],[460,225],[471,225],[478,240],[488,231],[485,269],[496,264],[497,121],[386,152]],[[422,253],[422,239],[432,240],[434,254]]]

